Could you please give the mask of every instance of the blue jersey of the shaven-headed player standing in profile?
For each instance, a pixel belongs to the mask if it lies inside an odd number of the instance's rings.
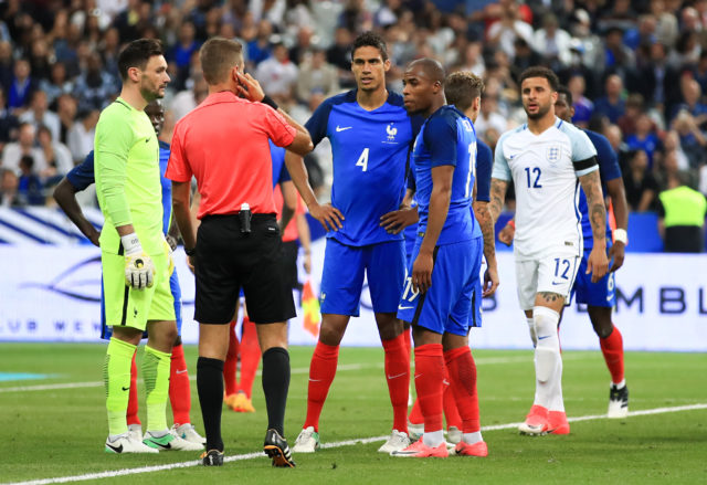
[[[437,245],[474,238],[477,225],[472,204],[476,168],[476,133],[472,122],[454,106],[442,106],[424,123],[412,151],[418,203],[419,232],[425,232],[432,194],[432,169],[454,166],[450,210]]]

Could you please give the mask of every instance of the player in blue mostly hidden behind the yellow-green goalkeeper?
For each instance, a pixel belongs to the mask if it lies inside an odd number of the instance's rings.
[[[145,108],[145,112],[150,118],[155,133],[157,136],[162,130],[165,124],[165,109],[159,101],[154,101]],[[165,238],[169,242],[172,251],[177,246],[177,239],[179,232],[176,230],[176,224],[170,228],[171,219],[171,180],[165,177],[165,170],[167,169],[167,161],[169,160],[169,144],[159,141],[159,166],[161,173],[162,184],[162,207],[165,210],[162,219],[162,231]],[[75,194],[85,190],[95,182],[94,177],[94,157],[93,151],[86,156],[86,159],[71,170],[64,179],[59,183],[54,190],[54,199],[72,220],[78,230],[96,246],[98,246],[98,236],[101,233],[93,226],[88,220],[84,217],[81,207],[76,202]],[[169,229],[169,231],[168,231]],[[173,272],[170,276],[170,289],[175,298],[175,314],[177,316],[177,329],[178,334],[181,334],[181,289],[179,287],[179,280],[177,272]],[[101,337],[109,340],[113,334],[112,328],[106,325],[105,314],[103,310],[103,287],[101,292]],[[172,426],[173,432],[182,440],[190,442],[192,446],[191,451],[201,450],[201,445],[204,443],[204,439],[197,433],[194,426],[191,424],[190,410],[191,410],[191,389],[189,383],[189,375],[187,372],[187,362],[184,360],[184,350],[181,344],[181,337],[177,337],[177,341],[172,347],[171,366],[170,366],[170,381],[169,381],[169,398],[172,407],[172,414],[175,418],[175,424]],[[128,411],[127,411],[127,424],[129,433],[133,439],[143,441],[143,432],[140,420],[137,415],[138,399],[137,399],[137,369],[135,366],[135,356],[133,357],[133,366],[130,372],[130,391],[128,398]],[[173,441],[172,441],[173,443]],[[194,446],[196,445],[196,446]]]

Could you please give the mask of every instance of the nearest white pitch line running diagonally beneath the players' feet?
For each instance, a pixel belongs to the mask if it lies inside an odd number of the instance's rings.
[[[644,410],[641,410],[641,411],[631,411],[631,412],[629,412],[629,417],[641,417],[641,415],[648,415],[648,414],[664,414],[664,413],[669,413],[669,412],[695,411],[695,410],[699,410],[699,409],[707,409],[707,403],[689,404],[689,405],[677,405],[677,407],[674,407],[674,408],[654,408],[654,409],[644,409]],[[608,419],[608,418],[606,418],[605,414],[591,414],[591,415],[584,415],[584,417],[568,418],[568,421],[574,423],[574,422],[580,422],[580,421],[592,421],[592,420],[600,420],[600,419]],[[507,424],[496,424],[496,425],[490,425],[490,426],[482,426],[482,431],[509,430],[509,429],[518,428],[518,424],[520,424],[520,423],[507,423]],[[325,444],[321,445],[321,447],[323,449],[333,449],[333,447],[340,447],[340,446],[349,446],[349,445],[354,445],[354,444],[376,443],[376,442],[380,442],[380,441],[386,441],[388,437],[389,437],[388,435],[383,435],[383,436],[361,437],[361,439],[358,439],[358,440],[337,441],[337,442],[334,442],[334,443],[325,443]],[[258,457],[265,457],[265,456],[263,455],[262,452],[260,452],[260,453],[245,453],[245,454],[241,454],[241,455],[225,456],[223,458],[223,461],[224,462],[238,462],[238,461],[242,461],[242,460],[252,460],[252,458],[258,458]],[[55,478],[41,478],[41,479],[33,479],[33,481],[29,481],[29,482],[14,482],[14,483],[0,484],[0,485],[48,485],[48,484],[53,484],[53,483],[85,482],[87,479],[113,478],[115,476],[126,476],[126,475],[137,475],[137,474],[141,474],[141,473],[162,472],[162,471],[167,471],[167,470],[187,468],[187,467],[199,466],[199,465],[201,465],[201,461],[200,460],[191,460],[189,462],[168,463],[166,465],[141,466],[139,468],[113,470],[113,471],[99,472],[99,473],[88,473],[88,474],[85,474],[85,475],[61,476],[61,477],[55,477]]]

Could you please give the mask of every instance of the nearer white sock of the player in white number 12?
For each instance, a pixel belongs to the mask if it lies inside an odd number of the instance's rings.
[[[562,358],[557,324],[560,315],[553,309],[536,306],[532,309],[537,346],[535,348],[535,404],[552,411],[564,411],[562,402]]]

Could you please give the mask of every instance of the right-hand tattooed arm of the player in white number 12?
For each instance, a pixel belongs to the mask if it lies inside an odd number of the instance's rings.
[[[582,190],[587,196],[589,221],[592,226],[593,246],[587,260],[587,274],[592,274],[592,283],[597,283],[605,274],[609,266],[606,259],[606,208],[601,191],[599,170],[591,171],[579,178]]]

